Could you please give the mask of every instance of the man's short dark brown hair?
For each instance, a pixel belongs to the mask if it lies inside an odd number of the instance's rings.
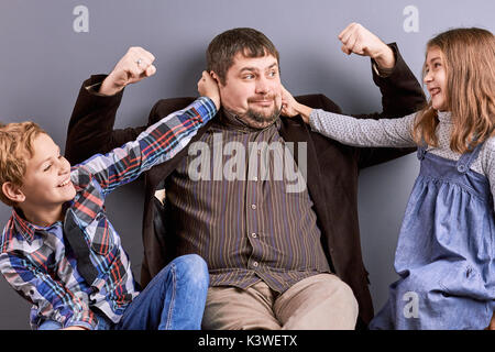
[[[227,72],[233,65],[238,53],[244,57],[263,57],[273,55],[279,61],[275,45],[262,32],[241,28],[220,33],[208,45],[208,72],[215,72],[222,85],[226,84]]]

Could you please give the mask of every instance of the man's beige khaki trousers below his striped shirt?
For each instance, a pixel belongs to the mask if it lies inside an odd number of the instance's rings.
[[[208,288],[205,330],[352,330],[358,301],[352,289],[333,274],[305,278],[283,295],[264,282],[246,289]]]

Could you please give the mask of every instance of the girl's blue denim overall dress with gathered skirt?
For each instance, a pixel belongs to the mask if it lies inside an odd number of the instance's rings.
[[[395,254],[400,278],[370,329],[484,329],[495,308],[495,222],[483,143],[450,161],[418,148],[421,167]]]

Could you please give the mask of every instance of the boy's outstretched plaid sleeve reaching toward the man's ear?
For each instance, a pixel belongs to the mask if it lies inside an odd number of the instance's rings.
[[[152,166],[173,158],[216,113],[213,101],[200,97],[148,127],[135,141],[106,155],[97,154],[79,166],[91,174],[106,196]]]

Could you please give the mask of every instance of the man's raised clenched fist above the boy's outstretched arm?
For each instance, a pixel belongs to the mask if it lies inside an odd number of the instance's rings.
[[[113,70],[101,84],[99,92],[113,96],[121,91],[127,85],[135,84],[145,77],[153,76],[156,67],[153,66],[155,57],[144,48],[133,46],[117,63]]]

